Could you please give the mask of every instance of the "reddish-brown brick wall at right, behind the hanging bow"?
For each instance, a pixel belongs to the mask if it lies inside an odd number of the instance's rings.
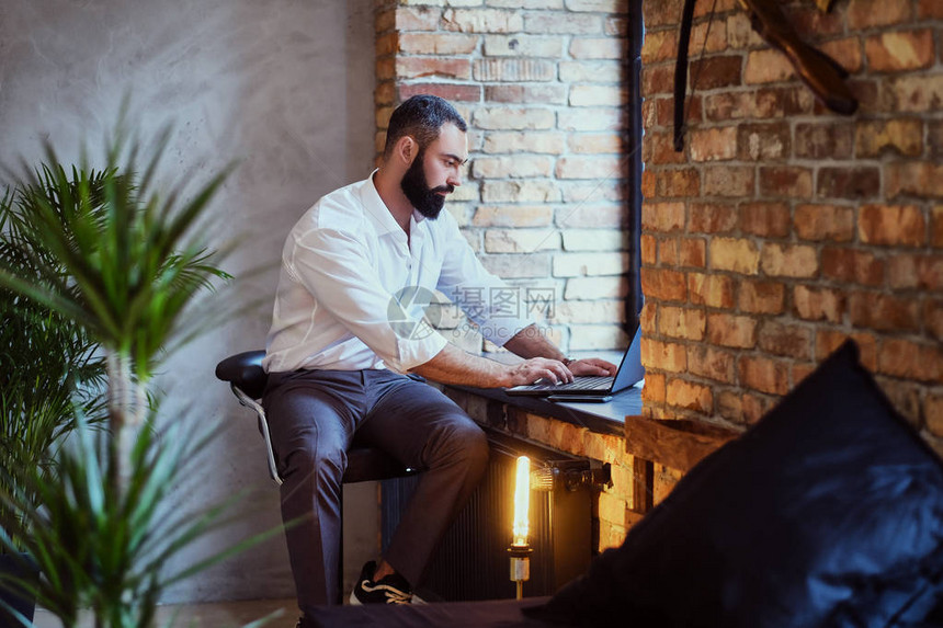
[[[784,2],[852,72],[851,117],[816,103],[735,0],[717,1],[702,57],[711,3],[682,153],[682,0],[644,5],[647,411],[748,424],[852,336],[943,452],[943,2]]]

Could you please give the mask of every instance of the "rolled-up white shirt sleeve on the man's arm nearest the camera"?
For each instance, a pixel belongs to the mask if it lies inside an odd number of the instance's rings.
[[[398,306],[356,233],[311,228],[286,247],[284,267],[350,333],[399,373],[432,359],[447,341]]]

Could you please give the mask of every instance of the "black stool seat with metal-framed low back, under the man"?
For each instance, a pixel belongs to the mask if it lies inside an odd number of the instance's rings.
[[[262,368],[262,358],[265,357],[264,350],[246,351],[230,355],[216,365],[216,377],[229,384],[232,393],[239,402],[255,411],[259,421],[259,431],[265,441],[265,449],[269,459],[269,475],[272,480],[280,484],[282,478],[275,465],[275,455],[272,449],[272,439],[269,436],[269,423],[265,410],[259,401],[265,392],[265,384],[269,374]],[[409,469],[396,460],[386,452],[376,447],[354,445],[348,449],[348,467],[344,470],[343,482],[366,482],[371,480],[387,480],[414,473],[416,469]]]

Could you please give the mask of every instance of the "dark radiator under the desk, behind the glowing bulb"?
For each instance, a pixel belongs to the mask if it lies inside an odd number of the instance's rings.
[[[485,478],[468,505],[446,533],[425,576],[417,587],[430,601],[474,601],[511,598],[515,585],[510,580],[508,546],[511,543],[516,456],[531,458],[532,468],[603,469],[595,461],[568,457],[489,434],[491,458]],[[607,466],[604,468],[607,472]],[[598,479],[604,475],[593,472]],[[382,541],[386,549],[393,530],[420,476],[387,480],[382,487]],[[561,585],[583,573],[593,555],[591,482],[567,488],[556,482],[550,491],[532,491],[530,514],[531,578],[524,596],[552,595]],[[571,482],[572,484],[572,482]]]

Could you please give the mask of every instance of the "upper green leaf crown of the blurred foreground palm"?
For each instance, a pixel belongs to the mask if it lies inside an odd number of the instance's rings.
[[[19,237],[46,252],[47,259],[35,260],[44,281],[0,263],[0,286],[81,320],[106,350],[128,358],[140,379],[152,373],[194,297],[229,278],[215,265],[218,255],[190,232],[231,169],[186,203],[178,202],[180,190],[150,191],[167,136],[140,183],[134,175],[140,147],[122,134],[94,178],[81,170],[70,178],[47,146],[47,163],[25,182],[14,222]]]

